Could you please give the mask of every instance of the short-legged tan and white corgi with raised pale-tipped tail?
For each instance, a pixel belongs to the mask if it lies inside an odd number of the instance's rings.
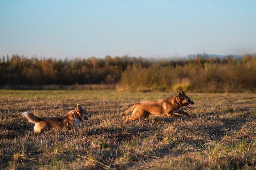
[[[81,107],[80,103],[77,103],[75,111],[70,111],[65,116],[36,117],[31,112],[24,112],[22,114],[26,116],[29,122],[35,124],[35,133],[42,133],[50,129],[77,128],[81,126],[83,120],[88,120],[88,117],[91,117],[87,110]]]

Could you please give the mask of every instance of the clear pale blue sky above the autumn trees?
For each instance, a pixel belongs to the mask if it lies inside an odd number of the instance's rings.
[[[0,0],[0,57],[256,53],[256,1]]]

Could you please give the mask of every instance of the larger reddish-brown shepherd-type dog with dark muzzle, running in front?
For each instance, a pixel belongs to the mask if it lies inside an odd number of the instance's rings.
[[[131,116],[126,118],[126,122],[130,120],[136,120],[138,118],[147,118],[150,114],[181,118],[181,115],[175,114],[179,113],[184,114],[192,119],[188,113],[180,110],[183,106],[191,108],[189,104],[194,104],[194,101],[191,101],[190,98],[186,96],[182,91],[179,93],[179,95],[168,97],[162,100],[149,100],[135,103],[129,106],[123,112],[123,116],[133,112]]]

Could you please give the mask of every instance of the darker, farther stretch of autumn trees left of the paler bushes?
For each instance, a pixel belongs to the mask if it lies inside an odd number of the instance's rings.
[[[1,85],[45,84],[114,84],[121,78],[127,65],[139,62],[137,58],[106,56],[72,60],[27,58],[19,55],[2,57]],[[143,62],[146,65],[146,62]]]

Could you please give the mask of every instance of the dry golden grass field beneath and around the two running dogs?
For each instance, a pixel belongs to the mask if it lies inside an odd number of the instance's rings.
[[[126,123],[129,105],[174,93],[0,90],[0,169],[256,169],[256,94],[185,93],[193,120]],[[81,129],[35,134],[20,114],[63,116],[77,102],[92,115]]]

